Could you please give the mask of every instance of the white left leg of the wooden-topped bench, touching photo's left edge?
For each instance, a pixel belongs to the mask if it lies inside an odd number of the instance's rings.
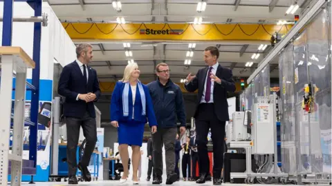
[[[1,56],[0,85],[0,185],[8,184],[8,152],[10,138],[10,116],[12,107],[12,72],[14,57]]]

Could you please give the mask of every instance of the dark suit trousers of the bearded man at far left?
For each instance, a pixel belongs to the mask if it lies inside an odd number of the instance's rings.
[[[95,118],[91,118],[89,112],[86,112],[83,118],[66,117],[68,176],[75,176],[77,172],[76,152],[80,138],[80,127],[82,127],[86,138],[84,154],[80,162],[82,167],[89,165],[91,154],[97,142]]]

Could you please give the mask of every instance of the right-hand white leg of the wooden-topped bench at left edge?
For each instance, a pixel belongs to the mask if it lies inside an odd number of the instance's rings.
[[[23,155],[24,107],[26,105],[26,68],[16,74],[12,155]],[[12,185],[21,185],[22,161],[12,161]]]

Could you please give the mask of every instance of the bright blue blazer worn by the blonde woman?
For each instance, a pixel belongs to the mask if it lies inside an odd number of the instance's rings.
[[[142,84],[143,90],[145,92],[145,116],[142,116],[142,102],[140,99],[140,91],[136,91],[135,104],[133,104],[131,89],[129,89],[129,114],[128,116],[123,116],[123,107],[122,107],[122,92],[124,90],[124,84],[122,81],[116,83],[116,87],[113,90],[111,98],[111,121],[118,122],[128,122],[128,121],[140,121],[142,123],[147,123],[149,120],[149,125],[157,125],[156,115],[154,114],[154,105],[152,104],[151,96],[147,85]],[[134,116],[133,116],[133,105],[134,105]],[[133,119],[132,119],[133,118]]]

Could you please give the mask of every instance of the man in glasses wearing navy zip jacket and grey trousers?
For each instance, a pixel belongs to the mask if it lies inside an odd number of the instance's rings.
[[[154,141],[154,173],[156,178],[152,184],[163,182],[163,145],[165,145],[165,160],[167,169],[166,184],[173,184],[178,175],[175,167],[175,138],[178,132],[176,118],[180,121],[181,135],[185,132],[185,105],[181,88],[169,79],[169,67],[166,63],[156,65],[158,79],[149,83],[149,91],[154,103],[154,111],[158,121],[158,132],[152,134]]]

